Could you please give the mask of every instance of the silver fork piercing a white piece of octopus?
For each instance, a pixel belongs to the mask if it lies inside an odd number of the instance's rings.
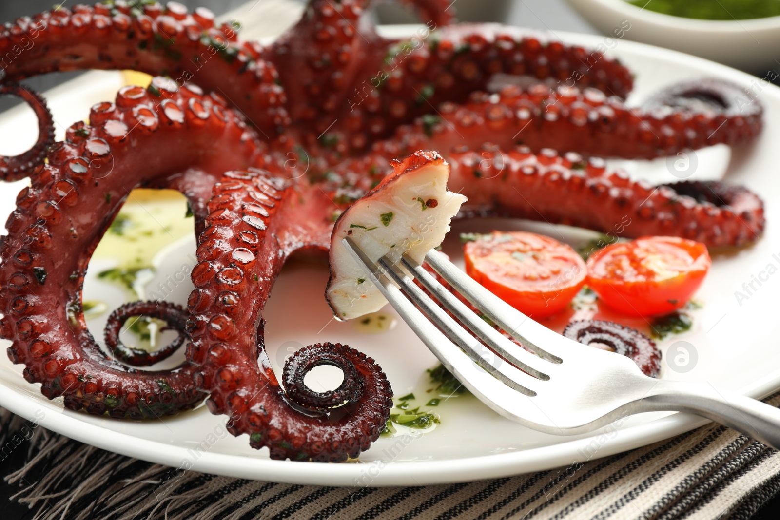
[[[427,253],[427,264],[441,278],[534,355],[496,331],[407,256],[399,264],[386,257],[374,263],[353,239],[344,244],[447,370],[502,416],[534,430],[569,435],[634,413],[690,412],[780,448],[780,409],[708,384],[647,377],[626,356],[587,348],[551,331],[498,299],[443,254]]]

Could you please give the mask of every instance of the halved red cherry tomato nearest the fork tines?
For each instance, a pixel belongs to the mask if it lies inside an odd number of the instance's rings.
[[[466,273],[530,317],[564,310],[587,274],[574,249],[530,232],[492,232],[464,246]]]

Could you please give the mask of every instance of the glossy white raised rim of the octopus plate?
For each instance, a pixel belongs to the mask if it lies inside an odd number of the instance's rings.
[[[402,37],[411,34],[417,27],[420,26],[385,26],[381,27],[381,31],[385,35]],[[551,40],[559,39],[569,44],[586,46],[595,46],[603,43],[605,38],[603,35],[580,34],[567,31],[527,30],[527,32],[528,34],[548,34]],[[708,72],[714,75],[728,76],[729,80],[736,83],[750,83],[750,80],[760,80],[757,76],[732,69],[728,65],[711,62],[705,58],[687,55],[671,49],[628,40],[619,40],[617,47],[620,46],[626,46],[636,55],[652,55],[653,58],[661,58],[665,62],[687,62],[691,65],[697,65],[697,69],[707,69]],[[612,51],[614,50],[612,49]],[[615,55],[612,51],[608,52],[608,55]],[[78,79],[71,80],[68,83],[76,81]],[[60,90],[66,84],[55,88]],[[780,105],[780,87],[765,84],[762,96],[774,96],[777,98],[778,105]],[[746,387],[736,390],[736,392],[752,398],[764,398],[774,393],[778,388],[780,388],[780,367],[761,377],[761,379],[753,381]],[[0,405],[16,415],[34,421],[37,425],[44,426],[48,430],[121,455],[140,458],[147,462],[168,465],[173,468],[181,467],[182,462],[188,459],[186,457],[186,447],[134,437],[127,433],[109,430],[103,426],[84,421],[81,419],[83,412],[73,412],[64,407],[59,407],[58,402],[52,403],[44,400],[44,396],[40,393],[33,395],[16,391],[13,387],[3,384],[2,380],[0,380]],[[47,411],[43,418],[39,418],[34,414],[34,410],[40,409],[41,405]],[[51,411],[55,413],[49,413]],[[614,438],[608,438],[608,440],[599,444],[597,458],[642,447],[658,440],[668,439],[707,423],[710,423],[710,421],[698,416],[674,413],[647,423],[622,428],[619,430],[619,435]],[[533,447],[527,450],[435,461],[372,461],[357,464],[317,465],[276,461],[266,457],[205,452],[193,461],[186,470],[281,483],[330,486],[420,486],[470,482],[479,479],[536,472],[577,462],[586,462],[580,460],[576,454],[591,442],[597,440],[597,437],[600,435],[599,431],[597,430],[594,435],[589,437],[566,440],[561,443]],[[376,475],[372,474],[372,466],[375,468],[374,472],[377,473]]]

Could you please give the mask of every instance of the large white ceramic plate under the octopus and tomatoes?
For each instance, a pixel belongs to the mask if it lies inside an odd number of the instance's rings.
[[[578,34],[560,36],[589,46],[603,41],[601,37]],[[634,103],[668,83],[700,76],[720,76],[746,86],[756,82],[752,76],[722,65],[629,41],[619,41],[612,53],[636,73],[636,89],[629,100]],[[53,90],[48,99],[55,119],[69,125],[86,117],[90,104],[112,99],[121,84],[118,73],[90,73]],[[780,90],[767,85],[758,97],[766,108],[766,129],[757,142],[733,153],[725,147],[698,151],[695,175],[725,175],[729,181],[744,183],[761,193],[768,206],[766,235],[749,249],[714,259],[711,274],[697,295],[704,308],[696,311],[693,330],[661,342],[665,360],[675,357],[676,351],[668,352],[676,348],[672,346],[675,341],[687,341],[697,352],[697,361],[690,363],[690,371],[670,370],[665,362],[663,377],[710,383],[757,398],[780,387],[780,348],[776,339],[780,320],[774,312],[775,295],[780,289],[780,274],[774,274],[780,267],[780,228],[776,225],[780,221],[776,145],[780,136]],[[0,153],[18,152],[33,140],[35,122],[30,116],[26,108],[2,115],[0,129],[4,139]],[[62,134],[63,129],[58,130]],[[615,163],[626,166],[634,175],[651,175],[656,182],[675,180],[665,160]],[[0,218],[12,210],[14,197],[22,186],[22,182],[0,186]],[[573,242],[583,239],[583,233],[572,228],[522,221],[460,221],[445,250],[454,253],[457,260],[459,247],[452,237],[458,232],[495,227],[534,228],[555,236],[561,232]],[[173,273],[190,262],[187,255],[193,250],[193,239],[176,242],[166,249],[158,257],[160,275],[166,269]],[[773,256],[775,253],[778,256]],[[770,269],[768,264],[774,268]],[[773,274],[769,275],[767,270]],[[87,298],[98,295],[115,306],[119,295],[105,285],[97,285],[94,271],[90,269]],[[756,290],[738,302],[735,292],[744,292],[743,283],[750,283],[753,275],[761,277],[762,285],[753,282]],[[402,322],[383,334],[363,334],[352,324],[332,321],[322,297],[327,278],[327,266],[316,263],[290,264],[278,278],[265,313],[266,344],[277,370],[289,348],[315,341],[342,341],[374,357],[388,374],[396,395],[408,391],[424,393],[425,370],[435,365],[434,356]],[[176,300],[186,299],[188,290],[186,284],[179,285]],[[97,338],[102,336],[99,322],[90,322]],[[7,344],[6,341],[0,346]],[[507,476],[611,455],[706,422],[685,414],[655,413],[633,416],[606,433],[556,437],[511,423],[473,398],[453,398],[435,409],[441,416],[441,424],[435,430],[382,438],[360,456],[358,463],[280,462],[270,460],[265,450],[250,449],[245,436],[226,435],[225,416],[212,416],[203,407],[147,422],[88,416],[63,409],[58,400],[48,401],[40,394],[38,385],[27,384],[21,373],[21,366],[0,356],[0,405],[50,430],[175,468],[286,483],[390,486]],[[326,380],[324,377],[323,384],[328,384]]]

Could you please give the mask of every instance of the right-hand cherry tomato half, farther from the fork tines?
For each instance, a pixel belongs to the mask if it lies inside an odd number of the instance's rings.
[[[672,236],[618,242],[587,260],[587,285],[629,316],[658,316],[686,305],[712,264],[707,246]]]

